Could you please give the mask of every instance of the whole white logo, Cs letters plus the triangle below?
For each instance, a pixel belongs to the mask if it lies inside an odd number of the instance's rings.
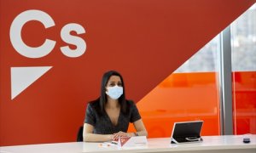
[[[49,54],[55,48],[55,41],[45,39],[44,43],[33,48],[27,46],[21,37],[22,27],[29,21],[37,20],[41,22],[45,29],[55,26],[55,21],[49,14],[40,10],[27,10],[18,14],[10,26],[9,37],[15,50],[25,56],[26,58],[41,58]],[[71,31],[76,31],[77,34],[85,33],[84,27],[70,23],[63,26],[61,29],[61,39],[64,42],[73,44],[75,49],[68,46],[62,46],[61,52],[70,58],[76,58],[84,54],[86,50],[86,42],[83,38],[70,35]],[[28,86],[35,82],[39,77],[43,76],[45,72],[49,71],[52,66],[34,66],[34,67],[11,67],[11,97],[14,99],[18,94],[24,91]]]

